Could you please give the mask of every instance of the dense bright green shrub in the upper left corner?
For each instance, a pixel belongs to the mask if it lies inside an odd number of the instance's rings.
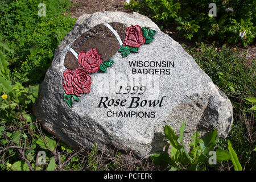
[[[39,3],[46,16],[39,16]],[[75,19],[64,15],[70,1],[18,0],[0,6],[0,39],[14,53],[7,53],[12,76],[30,84],[40,83],[53,59],[53,53],[71,30]]]

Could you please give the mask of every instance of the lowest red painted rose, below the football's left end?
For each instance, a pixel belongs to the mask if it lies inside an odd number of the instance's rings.
[[[63,88],[67,94],[81,94],[90,92],[90,76],[81,67],[75,70],[67,69],[63,74]]]

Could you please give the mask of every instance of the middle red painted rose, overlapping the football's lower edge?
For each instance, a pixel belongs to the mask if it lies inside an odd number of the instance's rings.
[[[90,49],[90,51],[86,53],[81,51],[77,61],[88,73],[97,72],[102,63],[101,55],[98,53],[97,48]]]

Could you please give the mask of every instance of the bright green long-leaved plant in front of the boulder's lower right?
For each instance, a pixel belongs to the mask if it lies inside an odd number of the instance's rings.
[[[216,160],[218,163],[228,161],[230,158],[234,163],[235,169],[240,169],[239,161],[229,142],[229,151],[217,147],[217,130],[208,133],[203,139],[200,138],[200,134],[196,133],[192,137],[192,142],[189,144],[191,150],[187,152],[183,144],[183,133],[185,130],[185,121],[180,127],[180,137],[178,137],[174,130],[168,125],[164,127],[164,134],[169,140],[172,148],[170,150],[170,156],[167,154],[155,154],[151,156],[152,161],[158,165],[168,165],[170,170],[207,170],[209,167],[214,166],[210,164],[210,154],[213,152],[216,154]],[[241,166],[241,165],[240,165]],[[238,168],[237,168],[238,167]]]

